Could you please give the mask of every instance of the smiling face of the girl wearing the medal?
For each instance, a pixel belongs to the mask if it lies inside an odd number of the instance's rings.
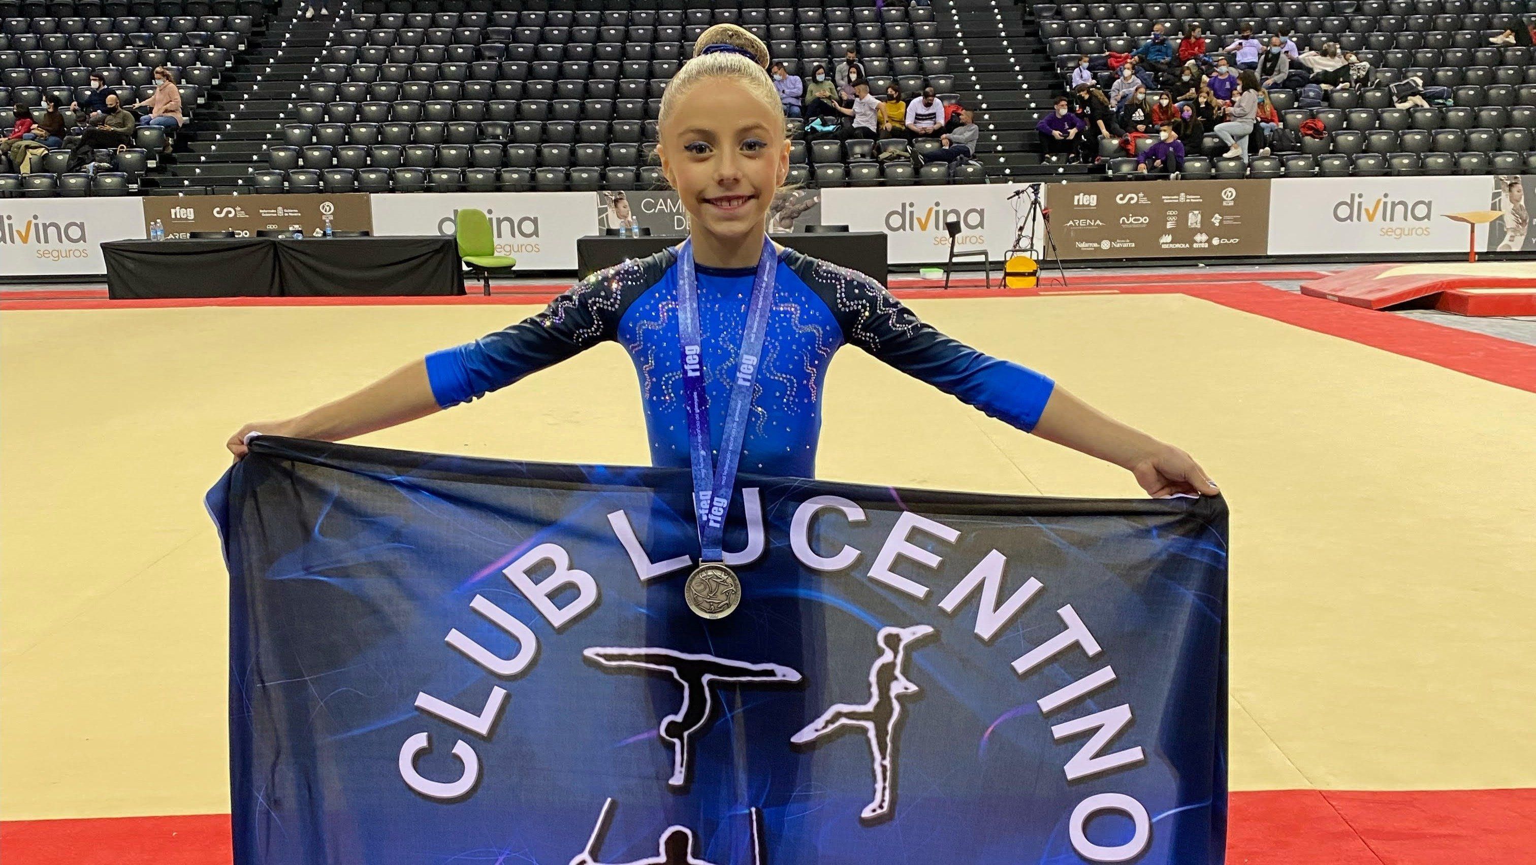
[[[660,131],[662,172],[682,198],[693,232],[716,241],[760,235],[773,195],[790,174],[782,115],[731,78],[680,94]]]

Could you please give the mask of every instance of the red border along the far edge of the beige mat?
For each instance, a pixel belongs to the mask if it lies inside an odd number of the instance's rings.
[[[1487,381],[1530,390],[1536,393],[1536,346],[1473,333],[1456,327],[1416,321],[1402,315],[1358,309],[1341,303],[1304,297],[1295,292],[1272,289],[1256,281],[1217,281],[1198,284],[1157,283],[1137,277],[1140,284],[1127,284],[1111,277],[1092,281],[1072,280],[1066,287],[1046,286],[1028,290],[998,290],[983,287],[963,289],[908,289],[899,287],[900,298],[1026,298],[1072,293],[1184,293],[1240,309],[1253,315],[1329,333],[1366,346],[1393,352],[1409,358],[1464,372]],[[1187,277],[1183,277],[1187,280]],[[975,281],[975,280],[971,280]],[[436,304],[541,304],[564,290],[565,284],[515,286],[511,292],[464,297],[424,298],[206,298],[206,300],[5,300],[0,295],[0,310],[26,309],[164,309],[203,306],[436,306]],[[1198,344],[1198,335],[1189,335]]]

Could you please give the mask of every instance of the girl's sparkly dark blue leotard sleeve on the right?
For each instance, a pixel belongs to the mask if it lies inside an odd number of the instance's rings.
[[[1044,375],[940,333],[883,286],[857,273],[837,292],[843,336],[895,369],[1025,432],[1055,389]]]

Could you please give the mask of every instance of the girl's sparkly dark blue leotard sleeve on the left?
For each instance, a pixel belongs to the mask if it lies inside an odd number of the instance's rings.
[[[427,355],[433,398],[444,409],[468,403],[611,340],[622,313],[619,297],[614,281],[594,275],[538,315]]]

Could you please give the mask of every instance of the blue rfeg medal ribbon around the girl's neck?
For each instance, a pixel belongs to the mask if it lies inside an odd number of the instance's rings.
[[[773,307],[773,280],[779,267],[779,252],[763,238],[763,255],[757,261],[757,278],[746,301],[746,326],[742,329],[742,350],[736,361],[736,383],[725,412],[720,439],[720,462],[710,456],[710,396],[703,389],[703,336],[699,332],[699,278],[693,266],[693,241],[677,250],[677,336],[682,343],[684,410],[688,415],[688,452],[693,461],[694,519],[699,525],[699,561],[722,562],[725,553],[725,510],[736,487],[736,467],[742,459],[746,438],[746,416],[753,407],[753,381],[768,332],[768,310]]]

